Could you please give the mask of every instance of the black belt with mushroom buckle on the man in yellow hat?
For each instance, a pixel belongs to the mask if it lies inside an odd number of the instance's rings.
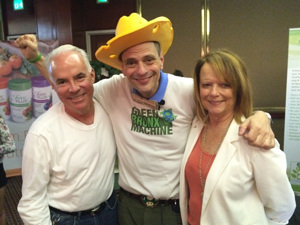
[[[168,200],[156,199],[156,198],[152,198],[150,196],[146,196],[143,194],[131,193],[127,190],[124,190],[122,187],[120,187],[120,191],[122,191],[129,197],[139,200],[142,204],[146,205],[147,207],[155,207],[158,205],[169,205],[169,204],[170,205],[179,205],[179,199],[168,199]]]

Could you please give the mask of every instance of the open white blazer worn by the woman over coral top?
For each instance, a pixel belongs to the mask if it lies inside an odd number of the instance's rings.
[[[285,154],[277,140],[270,150],[248,145],[237,135],[238,126],[233,119],[208,172],[200,224],[286,224],[295,209],[295,197],[286,175]],[[202,128],[195,118],[181,164],[183,224],[188,224],[184,168]]]

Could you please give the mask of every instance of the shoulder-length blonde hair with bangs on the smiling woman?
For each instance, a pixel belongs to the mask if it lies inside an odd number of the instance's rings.
[[[241,123],[241,117],[252,114],[252,88],[244,62],[235,53],[227,49],[218,49],[199,59],[194,68],[193,85],[196,98],[196,114],[203,123],[208,119],[208,112],[200,100],[200,70],[204,63],[209,63],[216,76],[228,83],[235,94],[234,119]]]

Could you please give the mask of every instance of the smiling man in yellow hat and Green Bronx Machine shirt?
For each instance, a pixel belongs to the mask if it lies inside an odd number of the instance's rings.
[[[162,72],[173,39],[166,17],[122,16],[115,34],[96,57],[122,74],[95,83],[94,97],[109,114],[117,144],[119,223],[180,224],[179,170],[195,114],[192,79]],[[38,55],[36,44],[25,44],[30,58]],[[47,77],[42,64],[43,57],[35,62]],[[245,137],[252,145],[274,145],[264,113],[242,127],[250,127]]]

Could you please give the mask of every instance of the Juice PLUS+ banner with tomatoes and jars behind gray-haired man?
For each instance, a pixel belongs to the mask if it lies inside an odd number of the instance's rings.
[[[58,40],[37,41],[46,55],[58,47]],[[25,136],[32,122],[56,99],[48,81],[27,59],[13,41],[0,41],[0,115],[13,135],[16,151],[5,154],[3,166],[7,177],[20,175]]]

